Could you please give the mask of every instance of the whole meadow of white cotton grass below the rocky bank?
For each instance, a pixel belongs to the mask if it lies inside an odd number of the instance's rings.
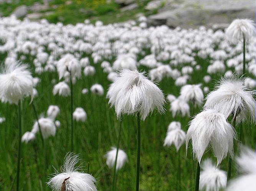
[[[254,24],[145,19],[0,18],[0,190],[255,188]]]

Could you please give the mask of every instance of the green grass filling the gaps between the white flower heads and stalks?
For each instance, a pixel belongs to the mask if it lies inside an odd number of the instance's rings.
[[[149,50],[147,50],[148,52]],[[91,62],[91,55],[89,56]],[[0,55],[2,61],[6,57]],[[111,60],[112,62],[113,60]],[[198,64],[202,66],[201,72],[195,72],[191,75],[191,84],[203,83],[203,76],[206,75],[206,69],[209,62],[196,58]],[[30,58],[25,62],[30,63]],[[119,121],[113,108],[109,108],[106,99],[107,88],[110,82],[107,81],[107,74],[103,73],[99,64],[91,65],[96,67],[94,76],[82,77],[74,85],[74,108],[83,107],[88,115],[85,123],[74,122],[74,152],[80,154],[82,159],[79,163],[87,167],[89,162],[89,173],[97,179],[97,188],[100,191],[108,191],[112,185],[113,170],[106,166],[104,154],[110,150],[111,146],[116,145]],[[145,69],[141,67],[140,69]],[[33,75],[38,76],[36,74]],[[55,167],[60,170],[63,165],[63,159],[70,149],[70,119],[69,119],[69,97],[53,96],[51,79],[58,79],[57,73],[43,73],[41,83],[38,84],[39,97],[35,98],[34,104],[38,114],[46,112],[49,105],[58,105],[61,109],[57,120],[61,122],[61,127],[57,130],[55,137],[46,140],[47,144],[47,171],[43,171],[43,148],[40,135],[37,134],[36,140],[28,144],[22,144],[21,160],[21,178],[20,191],[41,191],[43,189],[43,173],[50,175],[54,173]],[[215,75],[213,79],[220,76]],[[213,83],[205,84],[210,89]],[[90,88],[92,84],[100,83],[104,87],[104,96],[97,96],[89,92],[86,95],[81,94],[83,88]],[[174,86],[171,78],[165,78],[159,83],[159,87],[164,94],[179,95],[180,88]],[[30,100],[26,98],[22,102],[22,134],[31,131],[35,116]],[[201,108],[193,108],[190,104],[190,112],[198,113]],[[0,124],[0,190],[11,190],[15,183],[17,148],[18,148],[18,123],[17,106],[10,104],[0,104],[0,116],[4,116],[6,121]],[[178,155],[174,146],[163,147],[164,138],[168,124],[177,120],[182,123],[182,129],[187,131],[190,117],[172,117],[168,111],[169,104],[165,104],[166,113],[164,115],[153,112],[141,123],[141,168],[140,168],[140,190],[141,191],[170,191],[176,190],[177,186],[177,163]],[[131,191],[135,188],[135,167],[136,167],[136,118],[135,116],[124,116],[122,125],[122,134],[120,149],[124,149],[128,155],[129,162],[117,173],[117,190]],[[256,128],[255,125],[246,124],[244,129],[245,144],[255,148]],[[181,155],[181,190],[192,191],[194,186],[196,162],[193,161],[191,145],[187,152],[185,145],[180,148]],[[212,157],[209,150],[203,156],[203,159]],[[220,167],[226,170],[227,159],[223,160]],[[86,170],[85,170],[86,172]],[[233,167],[233,176],[235,167]],[[47,188],[47,190],[50,190]]]

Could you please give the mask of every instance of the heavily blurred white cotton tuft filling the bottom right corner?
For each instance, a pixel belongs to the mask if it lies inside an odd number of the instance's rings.
[[[256,188],[256,153],[246,147],[242,147],[240,152],[236,163],[243,175],[231,180],[226,191],[254,191]]]

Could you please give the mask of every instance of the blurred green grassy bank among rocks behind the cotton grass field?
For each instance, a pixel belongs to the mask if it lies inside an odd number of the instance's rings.
[[[0,4],[0,13],[2,16],[9,16],[15,8],[20,5],[31,6],[36,0],[20,0],[15,3]],[[50,23],[62,22],[63,24],[83,23],[85,19],[91,19],[92,23],[101,20],[104,24],[123,22],[129,19],[135,19],[137,13],[152,14],[144,10],[145,2],[138,1],[139,7],[130,11],[121,11],[121,7],[114,3],[106,3],[105,0],[72,0],[71,4],[66,4],[66,0],[53,0],[49,2],[49,8],[40,13],[52,11],[53,13],[46,18]],[[56,6],[56,7],[55,7]],[[156,12],[155,10],[154,12]],[[31,13],[31,11],[28,11]]]

